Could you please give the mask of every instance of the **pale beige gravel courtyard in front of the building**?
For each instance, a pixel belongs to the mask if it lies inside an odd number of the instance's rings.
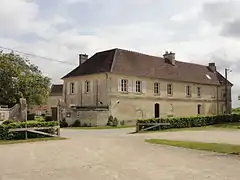
[[[231,139],[237,144],[240,131],[128,134],[131,130],[63,130],[69,140],[0,146],[0,180],[240,179],[238,156],[143,141],[149,137],[196,137]]]

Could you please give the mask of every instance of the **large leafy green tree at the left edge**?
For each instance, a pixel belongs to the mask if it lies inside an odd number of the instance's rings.
[[[49,89],[50,78],[28,59],[0,51],[0,104],[13,106],[21,97],[28,104],[44,104]]]

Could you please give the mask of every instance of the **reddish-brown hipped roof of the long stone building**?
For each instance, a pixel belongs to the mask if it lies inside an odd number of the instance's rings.
[[[123,49],[98,52],[62,79],[103,72],[199,84],[225,83],[225,78],[219,72],[212,72],[208,66],[178,60],[173,66],[165,62],[162,57]]]

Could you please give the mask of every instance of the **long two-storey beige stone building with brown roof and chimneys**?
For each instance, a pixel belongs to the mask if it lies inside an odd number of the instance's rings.
[[[79,57],[79,66],[62,78],[72,121],[105,125],[109,115],[135,123],[139,118],[231,111],[232,84],[215,63],[181,62],[172,52],[156,57],[122,49]]]

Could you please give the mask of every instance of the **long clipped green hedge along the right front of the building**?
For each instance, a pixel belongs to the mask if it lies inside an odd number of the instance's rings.
[[[149,129],[149,131],[156,131],[160,129],[172,129],[172,128],[190,128],[190,127],[201,127],[220,123],[239,122],[240,114],[229,114],[229,115],[216,115],[216,116],[194,116],[194,117],[171,117],[171,118],[153,118],[137,120],[138,130],[151,127],[147,123],[170,123],[170,125],[164,125]],[[146,124],[146,125],[144,125]]]

